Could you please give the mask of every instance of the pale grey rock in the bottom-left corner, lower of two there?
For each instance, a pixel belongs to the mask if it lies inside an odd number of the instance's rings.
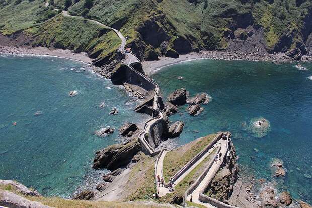
[[[36,201],[30,201],[10,191],[0,190],[0,206],[14,208],[51,208]]]

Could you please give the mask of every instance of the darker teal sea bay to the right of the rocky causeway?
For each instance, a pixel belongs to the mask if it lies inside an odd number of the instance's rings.
[[[242,175],[276,182],[278,191],[312,202],[312,64],[300,71],[294,63],[197,60],[169,66],[153,75],[163,97],[185,87],[191,96],[207,93],[211,103],[199,116],[185,112],[170,120],[183,120],[185,128],[177,139],[183,145],[218,131],[231,131]],[[177,77],[184,77],[178,80]],[[266,118],[271,129],[258,138],[250,123]],[[254,150],[256,148],[258,152]],[[286,177],[272,178],[270,163],[282,159]],[[304,176],[305,174],[305,176]]]

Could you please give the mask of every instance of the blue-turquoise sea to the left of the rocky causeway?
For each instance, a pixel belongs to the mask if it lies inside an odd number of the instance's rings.
[[[118,142],[125,121],[146,119],[132,110],[136,104],[125,90],[82,71],[85,66],[54,57],[0,56],[0,179],[68,197],[84,182],[94,152]],[[71,90],[78,95],[67,96]],[[119,113],[109,116],[112,107]],[[107,125],[114,134],[93,135]]]

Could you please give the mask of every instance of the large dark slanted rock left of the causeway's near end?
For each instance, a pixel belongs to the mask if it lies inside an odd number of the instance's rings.
[[[96,152],[93,160],[93,168],[106,168],[116,170],[129,164],[132,157],[141,149],[138,138],[134,138],[125,144],[115,144]]]

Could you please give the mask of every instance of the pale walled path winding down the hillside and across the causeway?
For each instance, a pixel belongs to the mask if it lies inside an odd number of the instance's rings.
[[[69,15],[67,11],[62,11],[62,15],[65,16],[65,17],[73,17],[73,18],[85,19],[85,18],[80,17],[80,16]],[[91,19],[86,19],[86,20],[90,21],[90,22],[93,22],[93,23],[95,23],[95,24],[97,24],[99,26],[102,26],[102,27],[105,27],[105,28],[113,30],[118,35],[118,37],[121,40],[121,44],[118,47],[118,51],[126,56],[126,58],[124,59],[123,62],[130,68],[130,70],[132,70],[134,73],[138,74],[140,77],[142,77],[142,79],[145,79],[148,82],[151,82],[155,86],[154,101],[153,101],[153,111],[154,111],[154,113],[153,113],[152,118],[145,122],[144,130],[139,135],[139,141],[140,141],[141,146],[144,146],[144,147],[142,147],[142,149],[146,150],[144,152],[145,154],[148,154],[148,155],[157,154],[158,152],[155,151],[154,148],[152,148],[150,146],[150,144],[148,143],[148,140],[146,139],[145,135],[149,134],[150,126],[152,126],[152,124],[154,124],[158,120],[163,119],[163,117],[164,117],[163,112],[160,109],[158,109],[159,108],[158,107],[158,95],[159,95],[159,86],[158,86],[158,84],[153,82],[152,80],[148,79],[145,75],[143,75],[140,72],[136,71],[132,67],[133,63],[139,63],[140,60],[133,53],[126,53],[125,46],[127,44],[127,40],[126,40],[126,38],[122,35],[122,33],[119,30],[117,30],[115,28],[112,28],[112,27],[109,27],[107,25],[104,25],[104,24],[102,24],[102,23],[100,23],[100,22],[98,22],[96,20],[91,20]],[[157,114],[157,117],[154,117],[155,114]]]

